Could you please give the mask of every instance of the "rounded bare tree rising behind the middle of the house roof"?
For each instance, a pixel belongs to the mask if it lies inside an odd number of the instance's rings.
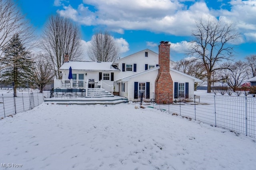
[[[108,32],[98,32],[92,37],[88,56],[92,61],[111,62],[119,57],[119,49]]]

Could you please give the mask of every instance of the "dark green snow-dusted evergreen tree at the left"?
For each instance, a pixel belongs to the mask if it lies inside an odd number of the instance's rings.
[[[6,84],[14,82],[14,96],[16,97],[17,87],[25,87],[26,81],[31,78],[32,59],[30,51],[26,50],[19,38],[15,34],[4,47],[2,47],[4,57],[1,59],[1,79]]]

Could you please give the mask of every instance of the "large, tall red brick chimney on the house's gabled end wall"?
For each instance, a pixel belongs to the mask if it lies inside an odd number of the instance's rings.
[[[172,103],[173,82],[170,75],[170,44],[160,42],[158,45],[158,63],[160,69],[155,81],[156,103]]]

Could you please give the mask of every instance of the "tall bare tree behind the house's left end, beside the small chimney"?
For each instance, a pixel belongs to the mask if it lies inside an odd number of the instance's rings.
[[[49,55],[57,79],[62,79],[58,69],[64,63],[65,53],[68,53],[69,60],[81,59],[80,30],[68,18],[62,18],[59,15],[51,16],[44,29],[40,45]]]

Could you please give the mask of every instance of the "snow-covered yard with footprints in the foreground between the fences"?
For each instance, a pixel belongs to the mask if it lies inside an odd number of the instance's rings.
[[[157,109],[134,109],[135,105],[43,103],[6,117],[0,121],[1,166],[22,164],[22,170],[255,169],[255,138]]]

